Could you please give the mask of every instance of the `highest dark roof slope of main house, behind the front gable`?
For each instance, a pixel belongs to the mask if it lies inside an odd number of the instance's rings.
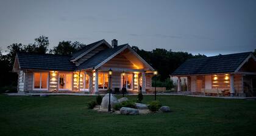
[[[112,48],[105,39],[101,39],[99,41],[93,42],[91,44],[88,44],[87,46],[83,47],[79,51],[73,53],[70,58],[70,60],[78,60],[82,56],[86,55],[91,50],[95,49],[96,47],[100,46],[101,44],[106,44],[108,47]]]

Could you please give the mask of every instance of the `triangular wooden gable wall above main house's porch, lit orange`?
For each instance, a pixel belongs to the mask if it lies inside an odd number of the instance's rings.
[[[110,61],[105,63],[102,67],[115,67],[115,68],[126,68],[126,69],[137,69],[126,57],[123,55],[116,55]]]

